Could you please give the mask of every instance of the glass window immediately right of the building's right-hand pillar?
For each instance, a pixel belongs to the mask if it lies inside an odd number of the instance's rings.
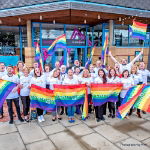
[[[128,46],[128,26],[114,25],[115,46]]]

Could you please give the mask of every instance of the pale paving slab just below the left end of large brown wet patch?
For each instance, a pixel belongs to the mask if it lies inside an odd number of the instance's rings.
[[[98,126],[94,128],[94,130],[113,143],[127,139],[129,137],[128,135],[123,134],[118,130],[114,129],[110,125]]]

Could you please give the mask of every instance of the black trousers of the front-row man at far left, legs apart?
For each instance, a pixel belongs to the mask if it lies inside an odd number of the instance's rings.
[[[10,120],[13,120],[13,107],[12,107],[12,102],[14,102],[18,119],[21,119],[21,114],[20,114],[20,106],[19,106],[19,98],[14,98],[14,99],[6,99],[7,101],[7,106],[8,106],[8,112],[9,112],[9,117]]]

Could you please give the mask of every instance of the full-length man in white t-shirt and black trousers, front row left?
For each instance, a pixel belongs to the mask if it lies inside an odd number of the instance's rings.
[[[13,67],[8,66],[7,67],[7,74],[2,77],[3,80],[7,80],[10,82],[17,83],[18,85],[13,88],[13,90],[9,93],[9,95],[6,98],[7,101],[7,106],[8,106],[8,112],[9,112],[9,117],[10,121],[9,124],[13,124],[13,107],[12,107],[12,102],[14,102],[16,110],[17,110],[17,115],[18,119],[23,122],[24,120],[21,117],[20,114],[20,106],[19,106],[19,95],[18,95],[18,88],[19,88],[19,78],[16,75],[13,75]]]

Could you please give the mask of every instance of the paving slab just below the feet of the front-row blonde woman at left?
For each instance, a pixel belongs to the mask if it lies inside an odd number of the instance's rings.
[[[47,138],[37,123],[18,125],[18,130],[25,144],[44,140]]]

